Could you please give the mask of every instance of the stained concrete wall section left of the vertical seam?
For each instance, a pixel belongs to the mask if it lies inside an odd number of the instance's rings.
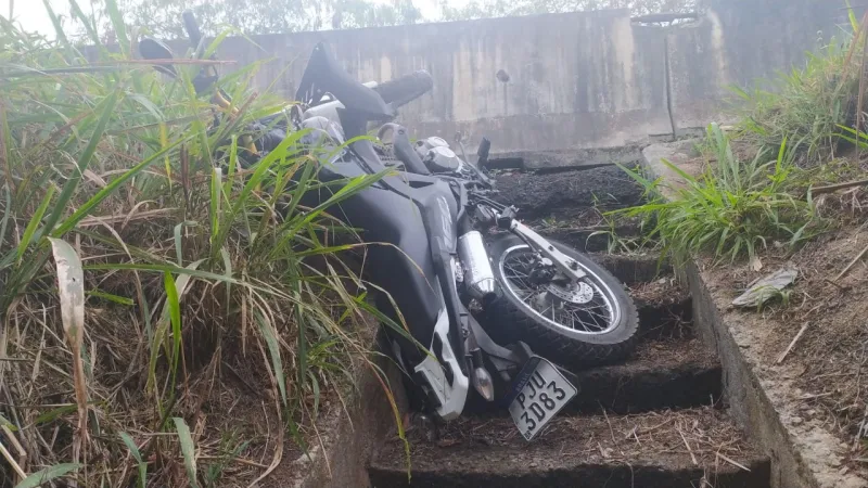
[[[403,108],[416,133],[460,131],[471,145],[488,134],[501,153],[614,147],[669,130],[663,38],[634,33],[626,10],[255,36],[258,47],[232,38],[218,55],[273,57],[255,84],[292,97],[320,40],[362,80],[427,69],[434,90]]]

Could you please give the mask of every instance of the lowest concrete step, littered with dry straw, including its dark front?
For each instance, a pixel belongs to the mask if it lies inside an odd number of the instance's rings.
[[[368,473],[371,486],[498,488],[768,488],[769,460],[726,413],[710,407],[637,415],[561,415],[533,441],[510,419],[462,419],[436,438],[408,432],[388,441]]]

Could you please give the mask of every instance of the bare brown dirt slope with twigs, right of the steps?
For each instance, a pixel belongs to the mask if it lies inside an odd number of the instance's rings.
[[[786,422],[833,433],[848,452],[840,470],[866,475],[868,438],[860,428],[868,422],[868,261],[854,259],[868,246],[868,229],[858,220],[812,241],[789,259],[764,253],[758,272],[746,265],[704,262],[703,277],[728,304],[754,280],[788,261],[795,266],[795,283],[775,303],[762,310],[731,307],[726,317],[750,324],[758,339],[746,347],[758,351],[768,371],[797,386],[790,396],[800,414]]]

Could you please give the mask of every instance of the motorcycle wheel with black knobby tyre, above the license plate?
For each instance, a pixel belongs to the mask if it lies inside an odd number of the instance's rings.
[[[522,341],[564,365],[618,361],[636,347],[639,316],[624,285],[588,256],[550,241],[586,275],[574,283],[540,278],[539,258],[515,235],[489,245],[500,296],[486,306],[486,331],[500,344]]]

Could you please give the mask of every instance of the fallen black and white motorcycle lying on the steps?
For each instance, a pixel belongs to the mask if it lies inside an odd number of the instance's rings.
[[[201,52],[195,20],[188,12],[183,21]],[[171,57],[151,38],[139,50],[146,60]],[[159,68],[173,73],[171,66]],[[212,91],[216,103],[230,106],[226,93],[213,88],[216,70],[206,69],[193,80],[196,91]],[[394,123],[396,110],[432,86],[425,72],[358,82],[319,43],[299,82],[298,105],[259,120],[265,130],[247,139],[250,163],[289,131],[308,129],[309,143],[344,147],[320,165],[321,181],[392,167],[333,213],[362,229],[367,242],[391,244],[368,249],[365,278],[388,294],[379,296],[378,308],[396,319],[399,311],[412,337],[390,335],[394,360],[439,419],[461,415],[475,391],[509,409],[531,440],[578,394],[567,368],[630,354],[638,314],[604,268],[545,239],[516,218],[514,206],[497,201],[485,169],[490,141],[483,138],[473,162],[437,137],[410,141]],[[370,124],[381,125],[378,141],[367,137]],[[306,198],[316,205],[328,196]]]

